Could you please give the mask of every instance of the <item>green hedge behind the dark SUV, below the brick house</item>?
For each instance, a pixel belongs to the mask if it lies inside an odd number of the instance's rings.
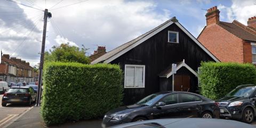
[[[238,85],[255,84],[256,68],[234,62],[202,62],[199,71],[201,94],[217,100]]]

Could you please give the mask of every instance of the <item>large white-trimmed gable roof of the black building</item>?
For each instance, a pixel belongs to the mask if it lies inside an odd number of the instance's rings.
[[[178,22],[178,20],[175,17],[173,17],[170,20],[167,20],[166,22],[157,26],[156,28],[148,31],[147,33],[133,39],[132,41],[127,42],[121,46],[116,47],[116,49],[107,52],[106,54],[102,55],[98,59],[92,61],[91,64],[95,64],[95,63],[99,63],[99,62],[109,63],[109,62],[113,61],[114,59],[120,57],[122,54],[133,49],[135,46],[138,46],[139,44],[143,43],[148,38],[159,33],[159,31],[172,25],[172,23],[175,23],[175,25],[177,25],[181,30],[183,30],[199,47],[201,47],[207,54],[209,54],[213,60],[219,62],[219,60],[210,51],[208,51],[201,43],[199,43],[197,41],[197,39],[193,35],[191,35],[187,29],[185,29],[182,25],[180,25],[180,23]]]

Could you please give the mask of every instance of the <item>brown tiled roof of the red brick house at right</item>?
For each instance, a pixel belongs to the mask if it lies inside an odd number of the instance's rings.
[[[238,21],[233,21],[232,23],[228,23],[228,22],[220,21],[218,25],[223,29],[226,29],[227,31],[229,31],[229,33],[239,38],[245,39],[247,41],[256,42],[256,35],[253,34],[252,31],[250,32],[249,30],[246,30],[242,26],[237,25],[237,22]]]

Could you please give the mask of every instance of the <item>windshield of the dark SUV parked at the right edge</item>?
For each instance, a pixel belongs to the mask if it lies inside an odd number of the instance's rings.
[[[226,97],[248,97],[255,90],[255,87],[240,87],[229,92]]]

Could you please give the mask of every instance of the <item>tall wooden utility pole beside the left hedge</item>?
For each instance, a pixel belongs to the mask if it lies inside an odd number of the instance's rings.
[[[39,65],[39,78],[38,78],[38,88],[37,88],[37,97],[36,97],[36,106],[40,106],[41,100],[41,90],[42,90],[42,75],[43,75],[43,66],[44,66],[44,49],[45,49],[45,37],[46,37],[46,27],[47,27],[47,18],[51,17],[51,13],[48,13],[48,10],[44,10],[44,29],[43,29],[43,39],[42,39],[42,49],[41,49],[41,58]]]

